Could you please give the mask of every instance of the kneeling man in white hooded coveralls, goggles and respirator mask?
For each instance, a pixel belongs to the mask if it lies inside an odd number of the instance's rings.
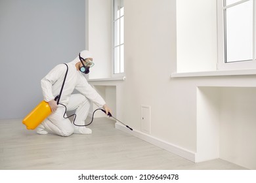
[[[98,107],[104,108],[106,114],[112,112],[102,97],[88,84],[84,72],[85,67],[89,69],[93,65],[93,57],[88,50],[83,50],[68,65],[68,75],[59,103],[66,105],[67,111],[75,110],[75,124],[85,125],[85,119],[89,113],[90,101]],[[85,66],[86,65],[86,66]],[[85,126],[76,126],[68,118],[64,118],[65,107],[57,105],[54,97],[60,94],[67,67],[65,64],[56,65],[42,80],[44,100],[49,103],[52,113],[37,127],[37,133],[55,133],[60,136],[69,136],[73,133],[91,134],[92,130]],[[88,70],[89,71],[89,70]],[[85,73],[85,72],[84,72]],[[77,90],[79,93],[72,94]]]

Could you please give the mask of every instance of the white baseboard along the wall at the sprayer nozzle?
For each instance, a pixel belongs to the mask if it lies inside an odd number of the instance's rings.
[[[150,144],[154,144],[155,146],[163,148],[164,150],[167,150],[173,154],[176,154],[177,156],[181,156],[182,158],[188,159],[193,162],[196,161],[196,153],[195,152],[191,152],[190,150],[186,150],[186,149],[176,146],[174,144],[170,144],[169,142],[162,141],[161,139],[152,137],[146,133],[137,131],[136,129],[133,129],[133,131],[131,131],[131,130],[127,129],[127,127],[125,127],[124,125],[119,124],[119,123],[116,123],[115,127],[116,127],[116,129],[124,131],[125,133],[129,133],[143,141],[149,142]]]

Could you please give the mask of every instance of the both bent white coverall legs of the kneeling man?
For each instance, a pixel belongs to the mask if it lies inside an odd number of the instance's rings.
[[[84,95],[81,95],[80,93],[71,95],[70,103],[68,103],[66,107],[67,111],[76,109],[75,124],[85,125],[85,119],[87,118],[87,115],[89,113],[90,102]],[[60,136],[70,136],[72,135],[72,133],[92,133],[91,129],[83,126],[75,126],[74,124],[72,124],[72,122],[70,122],[68,118],[63,118],[64,112],[65,107],[62,105],[58,105],[58,109],[42,122],[41,127],[43,125],[43,127],[47,131]]]

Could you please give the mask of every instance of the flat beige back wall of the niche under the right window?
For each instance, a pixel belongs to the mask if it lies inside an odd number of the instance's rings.
[[[223,88],[220,158],[256,169],[256,88]]]

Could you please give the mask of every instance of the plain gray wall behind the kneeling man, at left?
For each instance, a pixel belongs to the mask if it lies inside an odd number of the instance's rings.
[[[0,0],[0,119],[24,118],[41,78],[84,49],[84,0]]]

